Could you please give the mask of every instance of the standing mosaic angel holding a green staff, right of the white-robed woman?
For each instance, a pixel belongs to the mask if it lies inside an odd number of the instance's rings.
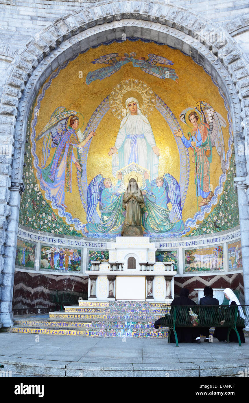
[[[189,107],[180,114],[181,121],[191,127],[192,133],[188,133],[187,139],[181,130],[174,131],[176,137],[187,148],[193,150],[192,161],[195,162],[195,185],[197,197],[201,196],[202,201],[199,207],[206,206],[214,193],[210,190],[210,163],[212,162],[212,147],[215,146],[216,152],[220,156],[220,166],[222,172],[225,169],[225,147],[222,134],[222,127],[226,127],[226,121],[222,116],[215,112],[210,104],[200,101],[196,107]],[[198,120],[199,123],[198,123]]]

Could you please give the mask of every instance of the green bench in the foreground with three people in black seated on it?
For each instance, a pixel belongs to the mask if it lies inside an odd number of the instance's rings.
[[[249,322],[249,305],[242,305],[246,319],[243,320],[239,316],[237,305],[167,305],[161,307],[161,326],[169,327],[168,343],[170,343],[170,335],[173,331],[175,334],[175,342],[178,347],[178,339],[175,327],[228,327],[227,342],[229,342],[229,334],[235,330],[239,345],[241,339],[237,330],[237,326],[245,327]]]

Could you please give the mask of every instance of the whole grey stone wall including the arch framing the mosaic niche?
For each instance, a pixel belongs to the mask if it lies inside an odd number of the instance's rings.
[[[14,0],[11,0],[14,3]],[[8,1],[7,1],[8,3]],[[185,7],[185,8],[184,8]],[[232,117],[245,301],[249,304],[249,79],[244,0],[234,2],[0,1],[0,320],[12,324],[14,256],[23,190],[27,115],[35,95],[64,61],[122,33],[159,40],[191,56],[218,83]],[[218,23],[216,23],[218,21]],[[3,29],[1,29],[3,28]],[[197,32],[222,34],[196,40]],[[0,324],[1,326],[1,324]]]

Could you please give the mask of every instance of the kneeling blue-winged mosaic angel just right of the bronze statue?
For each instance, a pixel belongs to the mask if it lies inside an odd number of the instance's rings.
[[[144,195],[145,212],[144,229],[148,233],[180,232],[184,229],[182,221],[181,192],[177,180],[169,173],[163,177],[149,181],[148,172],[144,172],[146,181]],[[171,203],[175,220],[171,222],[169,218],[170,210],[168,204]]]

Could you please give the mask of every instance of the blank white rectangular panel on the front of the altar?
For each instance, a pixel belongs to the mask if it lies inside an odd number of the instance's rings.
[[[116,299],[145,300],[145,277],[116,277]]]

